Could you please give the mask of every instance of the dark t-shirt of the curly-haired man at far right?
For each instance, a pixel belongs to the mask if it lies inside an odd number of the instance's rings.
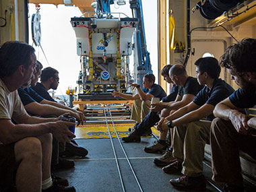
[[[255,88],[248,90],[239,88],[229,96],[229,100],[238,108],[251,108],[256,104]]]

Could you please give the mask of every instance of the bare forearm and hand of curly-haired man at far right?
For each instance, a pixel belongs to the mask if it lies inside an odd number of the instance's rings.
[[[247,124],[247,121],[249,120],[249,117],[239,112],[238,108],[230,102],[229,98],[226,98],[216,105],[214,108],[214,116],[220,117],[226,121],[231,121],[238,133],[245,135],[248,133],[250,127]]]

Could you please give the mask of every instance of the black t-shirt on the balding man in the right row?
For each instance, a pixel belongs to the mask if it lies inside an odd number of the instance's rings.
[[[179,86],[178,94],[183,98],[185,94],[193,94],[194,96],[203,88],[197,82],[195,77],[188,77],[183,87]]]

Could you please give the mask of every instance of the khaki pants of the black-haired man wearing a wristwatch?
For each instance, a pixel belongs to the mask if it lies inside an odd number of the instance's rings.
[[[197,177],[203,172],[205,143],[210,141],[211,121],[194,121],[174,127],[172,155],[183,161],[183,174]]]

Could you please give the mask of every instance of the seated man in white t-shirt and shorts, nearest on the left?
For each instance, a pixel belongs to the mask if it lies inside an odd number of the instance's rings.
[[[0,182],[15,183],[17,191],[75,191],[54,184],[50,168],[52,137],[69,142],[75,135],[67,126],[74,123],[30,117],[18,96],[17,89],[31,79],[35,65],[32,46],[18,41],[1,46]]]

